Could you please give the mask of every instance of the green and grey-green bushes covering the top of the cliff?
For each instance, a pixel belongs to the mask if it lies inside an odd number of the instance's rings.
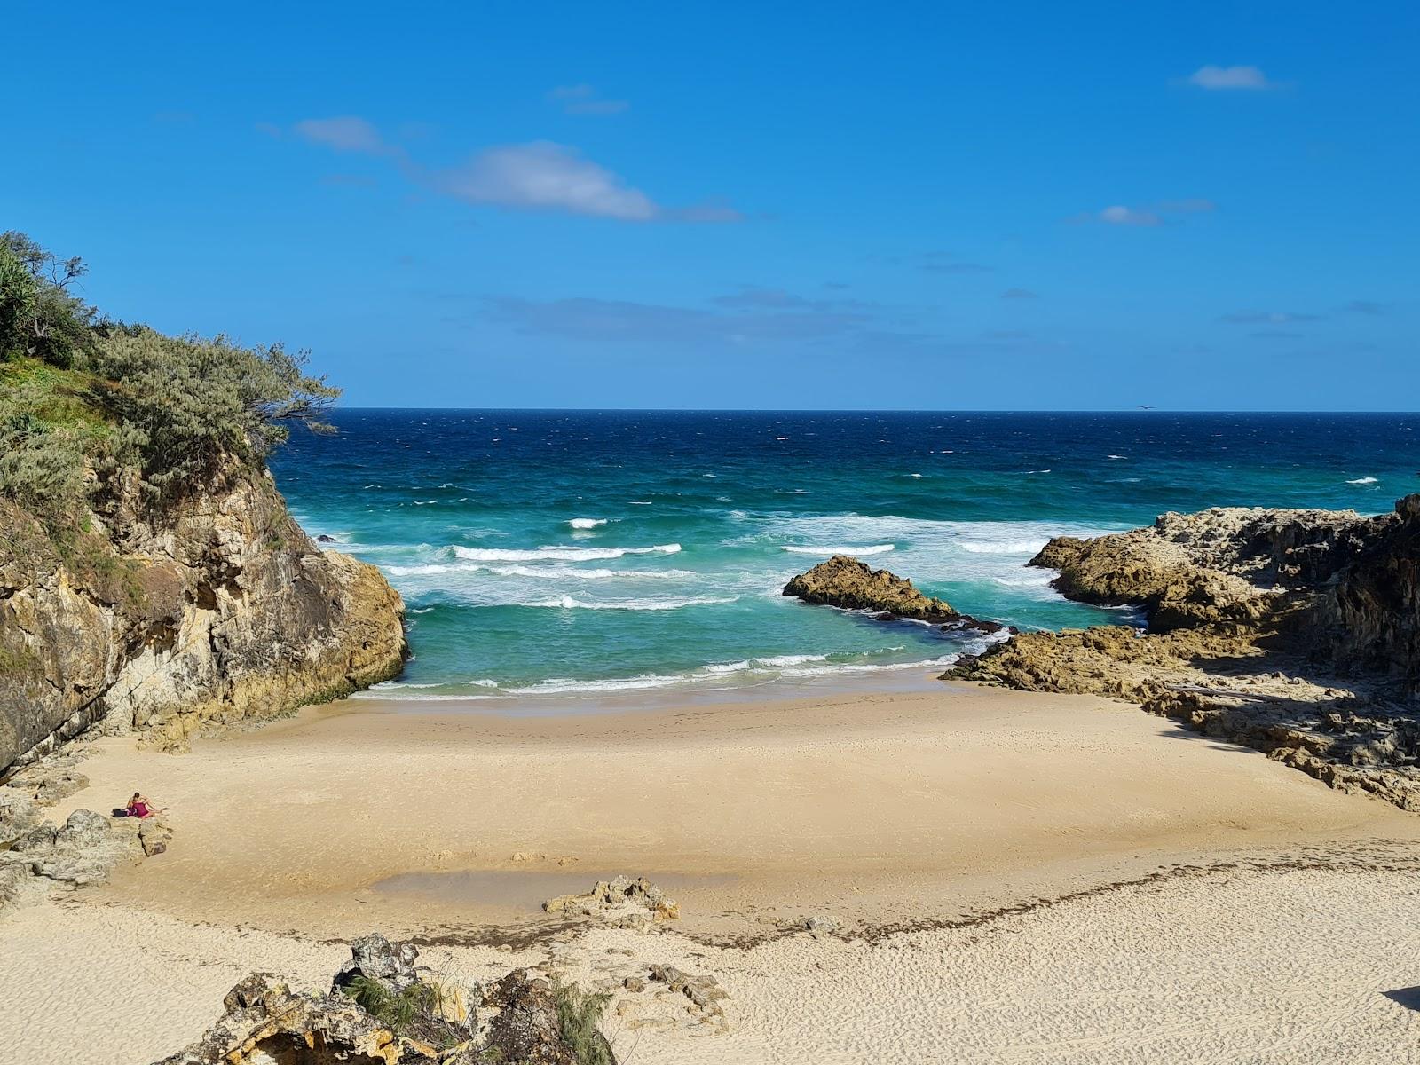
[[[0,234],[0,498],[74,524],[105,481],[89,470],[135,467],[151,500],[173,498],[261,469],[293,423],[329,429],[339,389],[305,352],[99,318],[72,291],[85,274]]]

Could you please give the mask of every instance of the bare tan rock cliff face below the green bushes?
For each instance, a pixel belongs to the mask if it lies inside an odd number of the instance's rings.
[[[0,771],[94,724],[182,746],[399,672],[399,595],[317,548],[270,474],[156,511],[121,479],[98,496],[67,535],[0,501]]]

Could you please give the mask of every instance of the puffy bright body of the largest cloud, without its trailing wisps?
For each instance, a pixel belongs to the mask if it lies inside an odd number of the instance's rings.
[[[662,209],[574,148],[551,141],[488,148],[436,185],[462,200],[527,210],[565,210],[622,222],[652,222]]]

